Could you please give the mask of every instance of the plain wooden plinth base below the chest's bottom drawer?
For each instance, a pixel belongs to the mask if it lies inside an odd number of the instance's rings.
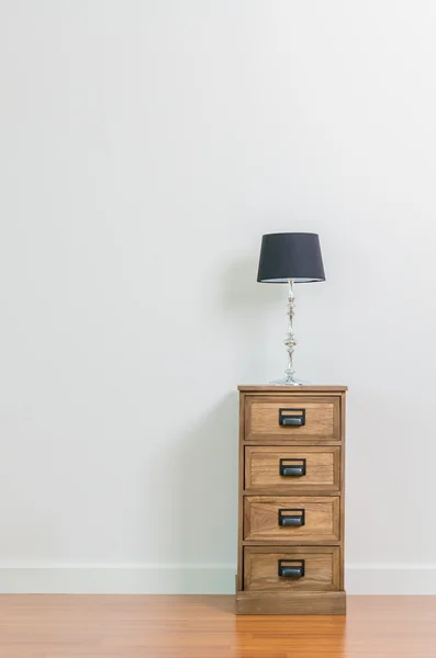
[[[346,614],[346,593],[238,591],[235,614]]]

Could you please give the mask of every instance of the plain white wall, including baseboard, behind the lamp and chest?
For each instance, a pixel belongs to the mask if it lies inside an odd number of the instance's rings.
[[[260,236],[318,231],[349,591],[436,593],[436,5],[0,3],[0,589],[232,591]]]

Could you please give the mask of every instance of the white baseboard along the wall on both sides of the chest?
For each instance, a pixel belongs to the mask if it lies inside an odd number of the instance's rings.
[[[0,565],[0,593],[232,594],[233,565]],[[436,594],[436,565],[346,567],[349,594]]]

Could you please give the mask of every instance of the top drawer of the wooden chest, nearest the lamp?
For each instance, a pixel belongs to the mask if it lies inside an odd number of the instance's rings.
[[[245,441],[340,441],[340,398],[247,396]]]

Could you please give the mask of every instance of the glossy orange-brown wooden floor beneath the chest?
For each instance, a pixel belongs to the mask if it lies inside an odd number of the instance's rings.
[[[435,658],[436,597],[234,616],[232,597],[0,597],[1,658]]]

